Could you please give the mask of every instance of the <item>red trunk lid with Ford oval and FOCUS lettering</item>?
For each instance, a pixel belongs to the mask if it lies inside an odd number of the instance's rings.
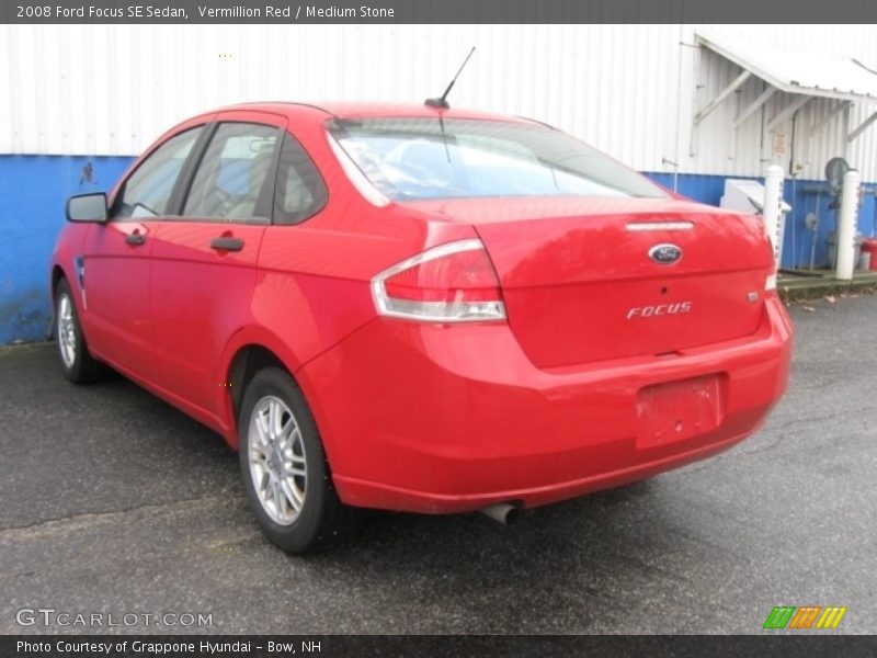
[[[413,205],[475,226],[509,324],[539,367],[668,354],[758,328],[773,268],[758,218],[679,200]]]

